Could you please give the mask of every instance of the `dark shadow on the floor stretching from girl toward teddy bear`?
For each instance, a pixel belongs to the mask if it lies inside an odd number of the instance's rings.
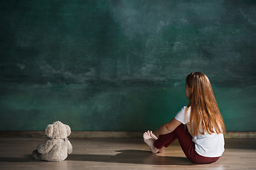
[[[151,165],[192,165],[186,157],[166,157],[151,154],[149,151],[126,149],[116,150],[115,155],[105,154],[70,154],[67,160],[86,162],[113,162],[125,164],[151,164]]]

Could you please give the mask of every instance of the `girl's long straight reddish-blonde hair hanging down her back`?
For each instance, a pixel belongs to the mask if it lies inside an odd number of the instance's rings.
[[[225,125],[220,114],[213,89],[206,74],[193,72],[186,77],[186,84],[191,90],[188,107],[191,107],[191,135],[208,132],[224,133]],[[187,110],[186,110],[187,113]],[[202,128],[199,130],[199,128]],[[193,128],[193,129],[192,129]]]

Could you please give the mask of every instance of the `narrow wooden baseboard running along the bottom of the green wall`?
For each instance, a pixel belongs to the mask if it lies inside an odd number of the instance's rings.
[[[72,131],[69,138],[139,138],[143,132]],[[0,137],[46,137],[44,131],[0,130]],[[256,132],[225,132],[225,138],[256,138]]]

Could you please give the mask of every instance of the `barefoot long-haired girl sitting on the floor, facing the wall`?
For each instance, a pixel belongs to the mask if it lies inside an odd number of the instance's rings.
[[[178,139],[191,162],[216,162],[224,152],[225,125],[206,74],[188,74],[185,94],[189,99],[188,106],[183,107],[173,120],[162,125],[154,134],[149,130],[144,132],[144,142],[155,154],[164,152]]]

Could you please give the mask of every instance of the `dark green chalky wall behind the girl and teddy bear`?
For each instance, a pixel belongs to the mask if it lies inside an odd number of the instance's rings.
[[[208,75],[228,131],[255,131],[256,1],[0,1],[0,130],[148,130]]]

